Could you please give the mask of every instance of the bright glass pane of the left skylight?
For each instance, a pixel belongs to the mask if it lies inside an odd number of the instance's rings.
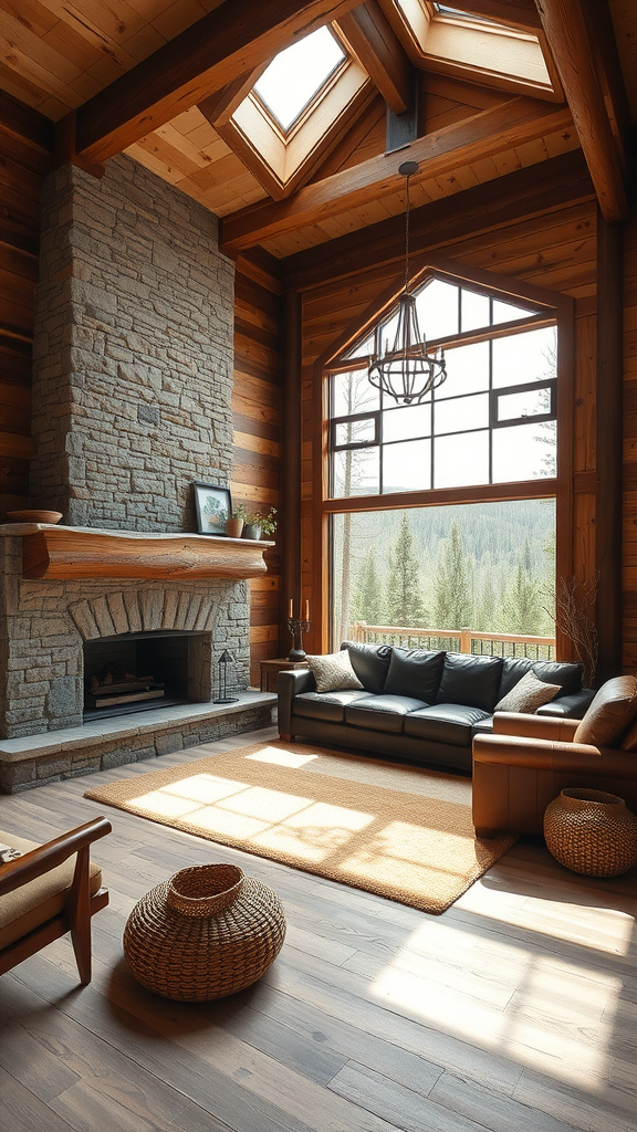
[[[287,131],[343,59],[332,33],[320,27],[275,55],[254,89]]]

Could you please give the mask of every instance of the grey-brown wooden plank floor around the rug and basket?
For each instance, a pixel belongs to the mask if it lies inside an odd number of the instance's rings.
[[[104,807],[87,783],[273,730],[0,798],[46,840]],[[68,940],[0,979],[3,1132],[629,1132],[637,1126],[636,877],[589,882],[518,842],[448,912],[379,897],[120,811],[99,842],[111,903],[94,977]],[[255,987],[182,1005],[121,952],[135,901],[185,865],[240,864],[288,936]]]

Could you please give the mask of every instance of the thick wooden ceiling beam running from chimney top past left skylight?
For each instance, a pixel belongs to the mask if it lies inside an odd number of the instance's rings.
[[[224,0],[77,111],[76,149],[103,163],[358,0]]]

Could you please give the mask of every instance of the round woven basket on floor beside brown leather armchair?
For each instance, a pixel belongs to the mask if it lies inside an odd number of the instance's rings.
[[[546,806],[544,838],[560,865],[584,876],[620,876],[637,860],[637,817],[601,790],[562,790]]]

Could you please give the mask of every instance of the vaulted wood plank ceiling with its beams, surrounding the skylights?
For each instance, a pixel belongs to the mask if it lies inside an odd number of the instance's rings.
[[[409,7],[441,18],[430,0]],[[540,43],[551,82],[533,89],[491,61],[472,70],[447,48],[419,54],[398,0],[0,0],[0,87],[58,123],[58,160],[99,173],[124,151],[224,217],[222,246],[231,255],[261,246],[287,257],[402,213],[400,158],[385,156],[385,108],[400,112],[411,83],[422,121],[410,154],[421,161],[415,206],[581,147],[604,215],[626,218],[626,88],[637,110],[632,6],[458,7],[507,24],[525,50]],[[371,94],[308,182],[272,200],[244,151],[199,108],[219,92],[244,97],[257,68],[325,23],[366,69]],[[448,19],[443,31],[449,38],[479,26]]]

